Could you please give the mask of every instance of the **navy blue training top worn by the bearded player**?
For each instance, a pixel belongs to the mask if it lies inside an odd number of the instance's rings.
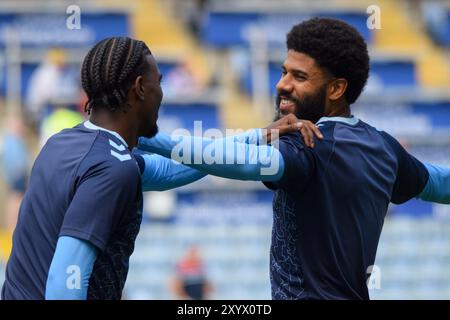
[[[274,189],[270,279],[273,299],[369,299],[389,202],[424,189],[425,166],[385,132],[356,118],[322,118],[313,149],[283,136],[285,170]]]

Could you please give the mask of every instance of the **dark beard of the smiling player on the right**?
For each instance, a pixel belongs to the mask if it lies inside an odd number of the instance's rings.
[[[294,114],[297,118],[302,120],[309,120],[312,123],[316,123],[325,115],[325,97],[326,97],[326,85],[320,87],[313,95],[307,95],[302,100],[294,98],[285,91],[279,91],[276,101],[276,114],[275,120],[284,117],[286,114],[282,114],[280,110],[281,96],[290,99],[295,104]]]

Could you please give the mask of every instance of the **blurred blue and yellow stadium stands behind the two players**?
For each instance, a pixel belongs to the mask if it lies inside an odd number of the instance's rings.
[[[42,143],[83,120],[80,63],[108,36],[144,40],[155,55],[164,75],[160,129],[193,131],[201,120],[204,132],[266,126],[286,33],[313,16],[345,20],[371,56],[355,115],[420,160],[450,165],[450,1],[78,0],[81,28],[69,29],[72,2],[0,2],[1,154],[20,172],[17,181],[11,169],[0,179],[0,280],[11,246],[9,194],[24,190]],[[380,7],[381,29],[367,28],[369,5]],[[21,112],[24,134],[7,118]],[[207,177],[145,202],[128,299],[174,298],[167,283],[186,243],[202,248],[203,270],[214,284],[207,298],[270,299],[272,193],[262,184]],[[391,206],[376,264],[382,280],[370,290],[373,299],[450,299],[449,206],[418,200]]]

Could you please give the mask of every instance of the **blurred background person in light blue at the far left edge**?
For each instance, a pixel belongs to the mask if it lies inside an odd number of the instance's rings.
[[[30,155],[25,141],[25,126],[17,115],[6,119],[6,131],[1,144],[1,166],[8,194],[6,229],[12,234],[17,223],[20,203],[28,184]]]

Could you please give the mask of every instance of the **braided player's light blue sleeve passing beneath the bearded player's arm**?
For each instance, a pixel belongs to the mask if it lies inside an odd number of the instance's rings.
[[[143,191],[164,191],[197,181],[207,174],[164,158],[158,154],[140,154],[144,159]]]

